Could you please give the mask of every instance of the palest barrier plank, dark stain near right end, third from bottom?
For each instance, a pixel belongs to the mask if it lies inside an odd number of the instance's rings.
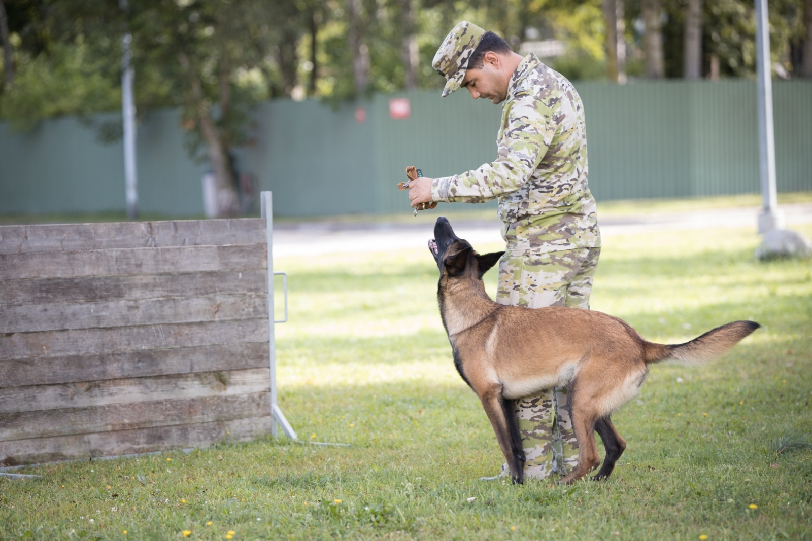
[[[177,398],[235,396],[269,389],[269,368],[22,385],[0,389],[0,414]]]

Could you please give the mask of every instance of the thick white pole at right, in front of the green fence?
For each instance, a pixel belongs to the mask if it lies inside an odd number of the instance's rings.
[[[767,0],[756,4],[756,78],[758,80],[758,165],[764,209],[758,217],[758,233],[784,229],[775,190],[775,133],[772,123],[772,67],[770,21]]]

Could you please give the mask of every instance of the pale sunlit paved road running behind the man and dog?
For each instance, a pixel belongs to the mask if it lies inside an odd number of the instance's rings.
[[[812,222],[812,203],[784,204],[780,208],[784,211],[788,226]],[[760,207],[715,208],[686,213],[607,216],[600,218],[599,223],[603,236],[724,227],[755,229],[760,212]],[[501,223],[495,219],[454,221],[451,218],[456,234],[474,245],[503,243],[499,234]],[[341,222],[283,225],[274,230],[274,257],[421,248],[434,236],[433,230],[434,225],[426,221],[414,225],[382,222],[371,226]]]

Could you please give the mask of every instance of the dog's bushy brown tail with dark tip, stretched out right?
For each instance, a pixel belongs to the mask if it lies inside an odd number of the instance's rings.
[[[685,344],[667,346],[647,341],[645,344],[646,363],[659,363],[660,361],[704,363],[736,346],[738,341],[759,327],[761,325],[755,321],[733,321],[708,331],[692,341],[685,342]]]

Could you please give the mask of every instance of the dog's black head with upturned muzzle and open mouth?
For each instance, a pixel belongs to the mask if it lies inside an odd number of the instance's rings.
[[[434,224],[434,238],[429,241],[429,250],[440,269],[440,279],[443,277],[460,277],[472,275],[481,279],[482,275],[493,267],[505,253],[495,251],[490,254],[479,255],[473,251],[471,243],[454,234],[451,223],[446,217],[438,217]]]

